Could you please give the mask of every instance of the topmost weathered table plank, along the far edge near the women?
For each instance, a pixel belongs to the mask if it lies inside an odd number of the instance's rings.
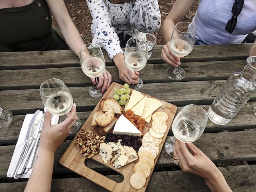
[[[191,54],[182,59],[182,62],[245,60],[248,57],[251,46],[252,44],[250,43],[238,45],[197,45]],[[148,63],[163,63],[161,57],[162,47],[162,45],[155,46]],[[114,65],[105,50],[103,50],[103,54],[107,65]],[[0,70],[49,68],[56,67],[56,65],[59,67],[79,67],[80,61],[71,50],[27,51],[26,54],[24,52],[0,53]]]

